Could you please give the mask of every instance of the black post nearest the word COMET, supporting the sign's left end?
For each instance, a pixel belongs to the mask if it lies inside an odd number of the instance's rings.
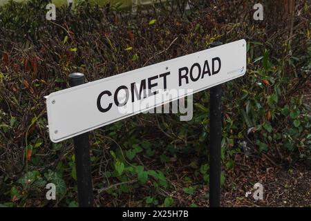
[[[78,86],[85,83],[82,73],[72,73],[69,75],[69,86]],[[83,116],[81,116],[83,117]],[[83,133],[73,137],[75,146],[75,170],[77,172],[77,191],[79,206],[93,206],[93,186],[91,175],[90,144],[88,133]]]

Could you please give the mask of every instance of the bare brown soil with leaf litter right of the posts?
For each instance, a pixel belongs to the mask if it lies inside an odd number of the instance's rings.
[[[304,162],[280,168],[265,158],[253,158],[230,171],[232,180],[225,182],[222,206],[311,206],[311,170]],[[253,198],[256,182],[263,184],[263,200]],[[245,196],[247,191],[252,194]]]

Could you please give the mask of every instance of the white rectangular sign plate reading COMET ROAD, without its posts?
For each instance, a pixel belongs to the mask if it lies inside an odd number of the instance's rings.
[[[59,142],[241,77],[244,39],[48,95],[50,140]]]

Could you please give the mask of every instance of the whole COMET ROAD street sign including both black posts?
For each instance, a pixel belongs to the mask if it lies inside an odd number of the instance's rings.
[[[46,97],[50,140],[73,137],[79,206],[93,205],[88,131],[211,88],[210,206],[220,206],[221,84],[246,72],[246,42],[215,42],[211,48],[85,83],[69,75],[70,88]],[[165,97],[171,90],[183,93]],[[165,99],[154,99],[155,97]],[[130,107],[122,111],[124,106]],[[139,108],[131,108],[139,106]]]

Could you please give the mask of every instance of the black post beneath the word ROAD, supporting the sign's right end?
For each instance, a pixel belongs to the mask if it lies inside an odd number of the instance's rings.
[[[214,42],[211,48],[222,45]],[[221,84],[210,89],[209,106],[209,206],[220,206],[220,155],[221,155]]]

